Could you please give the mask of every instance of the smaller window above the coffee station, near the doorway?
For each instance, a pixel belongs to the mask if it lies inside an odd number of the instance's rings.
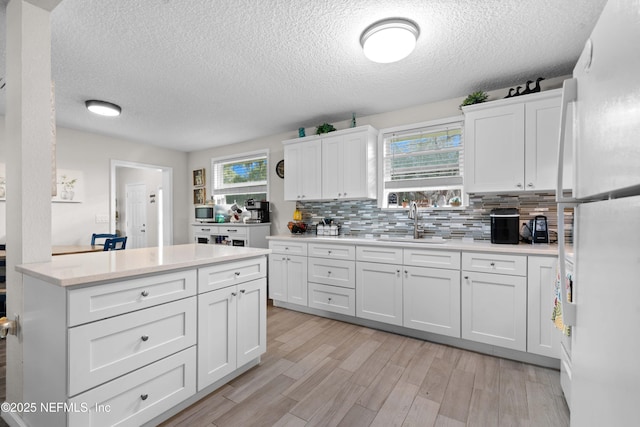
[[[268,150],[211,159],[215,203],[244,206],[247,199],[267,200],[268,159]]]

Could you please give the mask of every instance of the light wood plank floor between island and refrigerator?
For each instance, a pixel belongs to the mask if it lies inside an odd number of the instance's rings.
[[[569,425],[557,371],[269,307],[262,363],[163,426]]]

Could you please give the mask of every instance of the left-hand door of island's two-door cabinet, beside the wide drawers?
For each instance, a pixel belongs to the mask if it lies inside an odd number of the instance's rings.
[[[235,286],[198,295],[198,391],[236,369]]]

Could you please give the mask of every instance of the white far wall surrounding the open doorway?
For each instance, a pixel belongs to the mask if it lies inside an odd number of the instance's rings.
[[[0,162],[6,158],[5,122],[0,117]],[[57,128],[56,161],[58,169],[83,172],[84,197],[81,203],[52,203],[52,244],[90,243],[92,233],[109,232],[108,223],[96,223],[96,215],[109,215],[111,160],[123,160],[173,168],[173,243],[189,242],[189,217],[185,209],[191,203],[188,191],[187,153],[141,144],[135,141],[88,132]],[[7,183],[11,191],[11,183]],[[0,201],[0,242],[6,238],[6,206]]]

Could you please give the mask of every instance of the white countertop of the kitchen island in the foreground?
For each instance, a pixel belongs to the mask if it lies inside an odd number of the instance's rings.
[[[225,261],[267,255],[269,249],[225,245],[162,246],[52,257],[49,262],[21,264],[19,272],[59,286],[129,278]]]

